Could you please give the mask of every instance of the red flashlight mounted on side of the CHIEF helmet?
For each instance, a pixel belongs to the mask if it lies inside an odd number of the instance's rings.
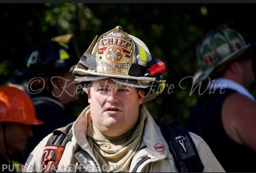
[[[163,78],[161,74],[166,70],[164,62],[160,61],[160,59],[152,59],[147,64],[149,68],[144,73],[145,76],[153,77],[157,75],[160,79]]]

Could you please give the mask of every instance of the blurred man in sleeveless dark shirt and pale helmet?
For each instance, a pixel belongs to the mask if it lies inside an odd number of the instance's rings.
[[[256,171],[256,103],[246,89],[255,82],[254,52],[254,44],[230,28],[208,33],[197,49],[201,68],[195,84],[204,81],[208,90],[198,97],[187,127],[227,172]]]

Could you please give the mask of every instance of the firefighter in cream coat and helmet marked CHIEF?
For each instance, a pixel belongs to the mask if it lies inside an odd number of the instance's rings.
[[[90,105],[75,123],[54,131],[53,138],[45,137],[32,151],[28,167],[58,165],[65,171],[71,164],[100,172],[113,167],[124,172],[177,172],[160,127],[143,105],[163,91],[164,70],[161,61],[151,60],[147,46],[121,26],[95,38],[73,70]],[[191,137],[203,164],[200,171],[224,171],[208,145],[195,134]],[[54,144],[61,140],[66,147]]]

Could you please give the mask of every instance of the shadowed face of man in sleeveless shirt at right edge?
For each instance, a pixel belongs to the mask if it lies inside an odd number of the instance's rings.
[[[250,86],[255,82],[252,61],[250,59],[242,60],[239,62],[243,71],[243,83],[244,86]]]

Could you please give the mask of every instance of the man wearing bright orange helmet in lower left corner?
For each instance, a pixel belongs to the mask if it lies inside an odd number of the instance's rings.
[[[0,86],[1,171],[17,171],[12,166],[14,162],[11,156],[25,151],[28,139],[33,136],[31,126],[43,123],[36,119],[33,103],[25,92],[11,86]]]

